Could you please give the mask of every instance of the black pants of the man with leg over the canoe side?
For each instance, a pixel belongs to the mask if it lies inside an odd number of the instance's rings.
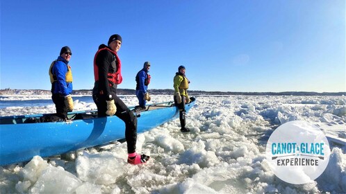
[[[135,152],[135,143],[137,142],[137,118],[133,112],[125,105],[125,103],[115,94],[112,97],[117,107],[115,116],[119,117],[125,123],[125,139],[127,142],[127,152],[129,154]],[[104,95],[92,95],[94,103],[97,106],[97,114],[99,117],[107,116],[107,103]]]

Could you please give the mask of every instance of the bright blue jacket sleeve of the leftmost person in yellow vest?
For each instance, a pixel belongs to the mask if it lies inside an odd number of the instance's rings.
[[[58,93],[63,94],[63,96],[69,95],[69,91],[67,89],[66,85],[66,73],[67,73],[67,66],[62,61],[57,61],[56,64],[53,66],[53,74],[56,75],[57,84],[56,87]]]

